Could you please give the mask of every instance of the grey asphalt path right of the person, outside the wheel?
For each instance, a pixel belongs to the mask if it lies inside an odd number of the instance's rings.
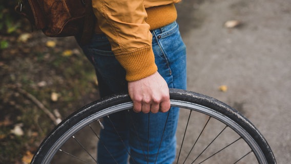
[[[277,162],[290,163],[291,1],[183,0],[177,8],[188,90],[239,110],[267,139]],[[226,28],[228,20],[241,25]]]

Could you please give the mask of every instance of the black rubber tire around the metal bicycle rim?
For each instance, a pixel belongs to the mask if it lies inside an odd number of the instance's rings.
[[[276,163],[276,159],[271,150],[271,147],[269,147],[263,135],[251,123],[250,120],[248,120],[234,108],[222,103],[215,98],[192,91],[179,89],[170,89],[170,99],[186,101],[206,108],[210,108],[234,120],[255,140],[260,150],[262,150],[267,163]],[[37,152],[32,158],[31,163],[42,163],[47,152],[49,152],[52,145],[54,145],[54,142],[56,142],[60,136],[62,136],[66,131],[68,131],[68,129],[77,124],[79,121],[82,121],[92,114],[102,111],[103,109],[129,102],[131,102],[131,99],[127,93],[117,94],[94,101],[82,107],[78,111],[72,113],[69,117],[60,122],[60,124],[55,127],[54,130],[44,139],[44,141],[41,142]]]

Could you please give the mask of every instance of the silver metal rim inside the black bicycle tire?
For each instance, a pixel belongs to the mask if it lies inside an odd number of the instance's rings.
[[[223,122],[225,125],[229,126],[236,133],[238,133],[240,136],[242,136],[242,138],[245,140],[245,142],[248,144],[248,146],[255,153],[256,158],[257,158],[259,163],[267,163],[267,161],[266,161],[266,159],[264,157],[264,154],[261,151],[261,149],[259,148],[259,146],[257,145],[256,141],[253,140],[253,138],[250,136],[250,134],[248,134],[241,126],[239,126],[232,119],[226,117],[225,115],[222,115],[221,113],[219,113],[219,112],[217,112],[215,110],[212,110],[210,108],[207,108],[207,107],[195,104],[195,103],[190,103],[190,102],[187,102],[187,101],[171,99],[171,106],[172,107],[185,108],[185,109],[189,109],[189,110],[194,110],[194,111],[203,113],[205,115],[212,116],[212,117],[216,118],[217,120]],[[123,103],[123,104],[120,104],[120,105],[112,106],[112,107],[106,108],[105,110],[101,110],[99,112],[96,112],[95,114],[90,115],[86,119],[83,119],[82,121],[78,122],[78,124],[76,124],[75,126],[70,128],[67,131],[67,133],[65,133],[64,135],[59,137],[59,140],[57,142],[55,142],[55,144],[51,147],[51,149],[49,150],[47,155],[44,157],[44,160],[43,160],[42,163],[49,163],[51,161],[51,159],[53,158],[53,156],[55,155],[55,153],[58,151],[58,149],[75,132],[77,132],[80,129],[84,128],[85,126],[87,126],[91,122],[93,122],[93,121],[95,121],[97,119],[100,119],[100,118],[102,118],[104,116],[107,116],[109,114],[112,114],[112,113],[116,113],[116,112],[119,112],[119,111],[132,109],[132,107],[133,107],[133,103],[132,102],[128,102],[128,103]],[[241,116],[239,116],[239,117],[241,117]]]

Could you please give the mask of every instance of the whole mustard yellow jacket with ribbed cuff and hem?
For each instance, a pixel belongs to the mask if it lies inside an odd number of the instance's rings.
[[[157,71],[150,30],[177,18],[175,3],[181,0],[93,0],[95,32],[108,36],[112,51],[135,81]]]

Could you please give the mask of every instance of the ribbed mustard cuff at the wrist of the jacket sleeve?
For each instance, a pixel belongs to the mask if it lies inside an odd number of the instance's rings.
[[[151,46],[115,54],[115,57],[126,70],[127,81],[136,81],[148,77],[158,70]]]

